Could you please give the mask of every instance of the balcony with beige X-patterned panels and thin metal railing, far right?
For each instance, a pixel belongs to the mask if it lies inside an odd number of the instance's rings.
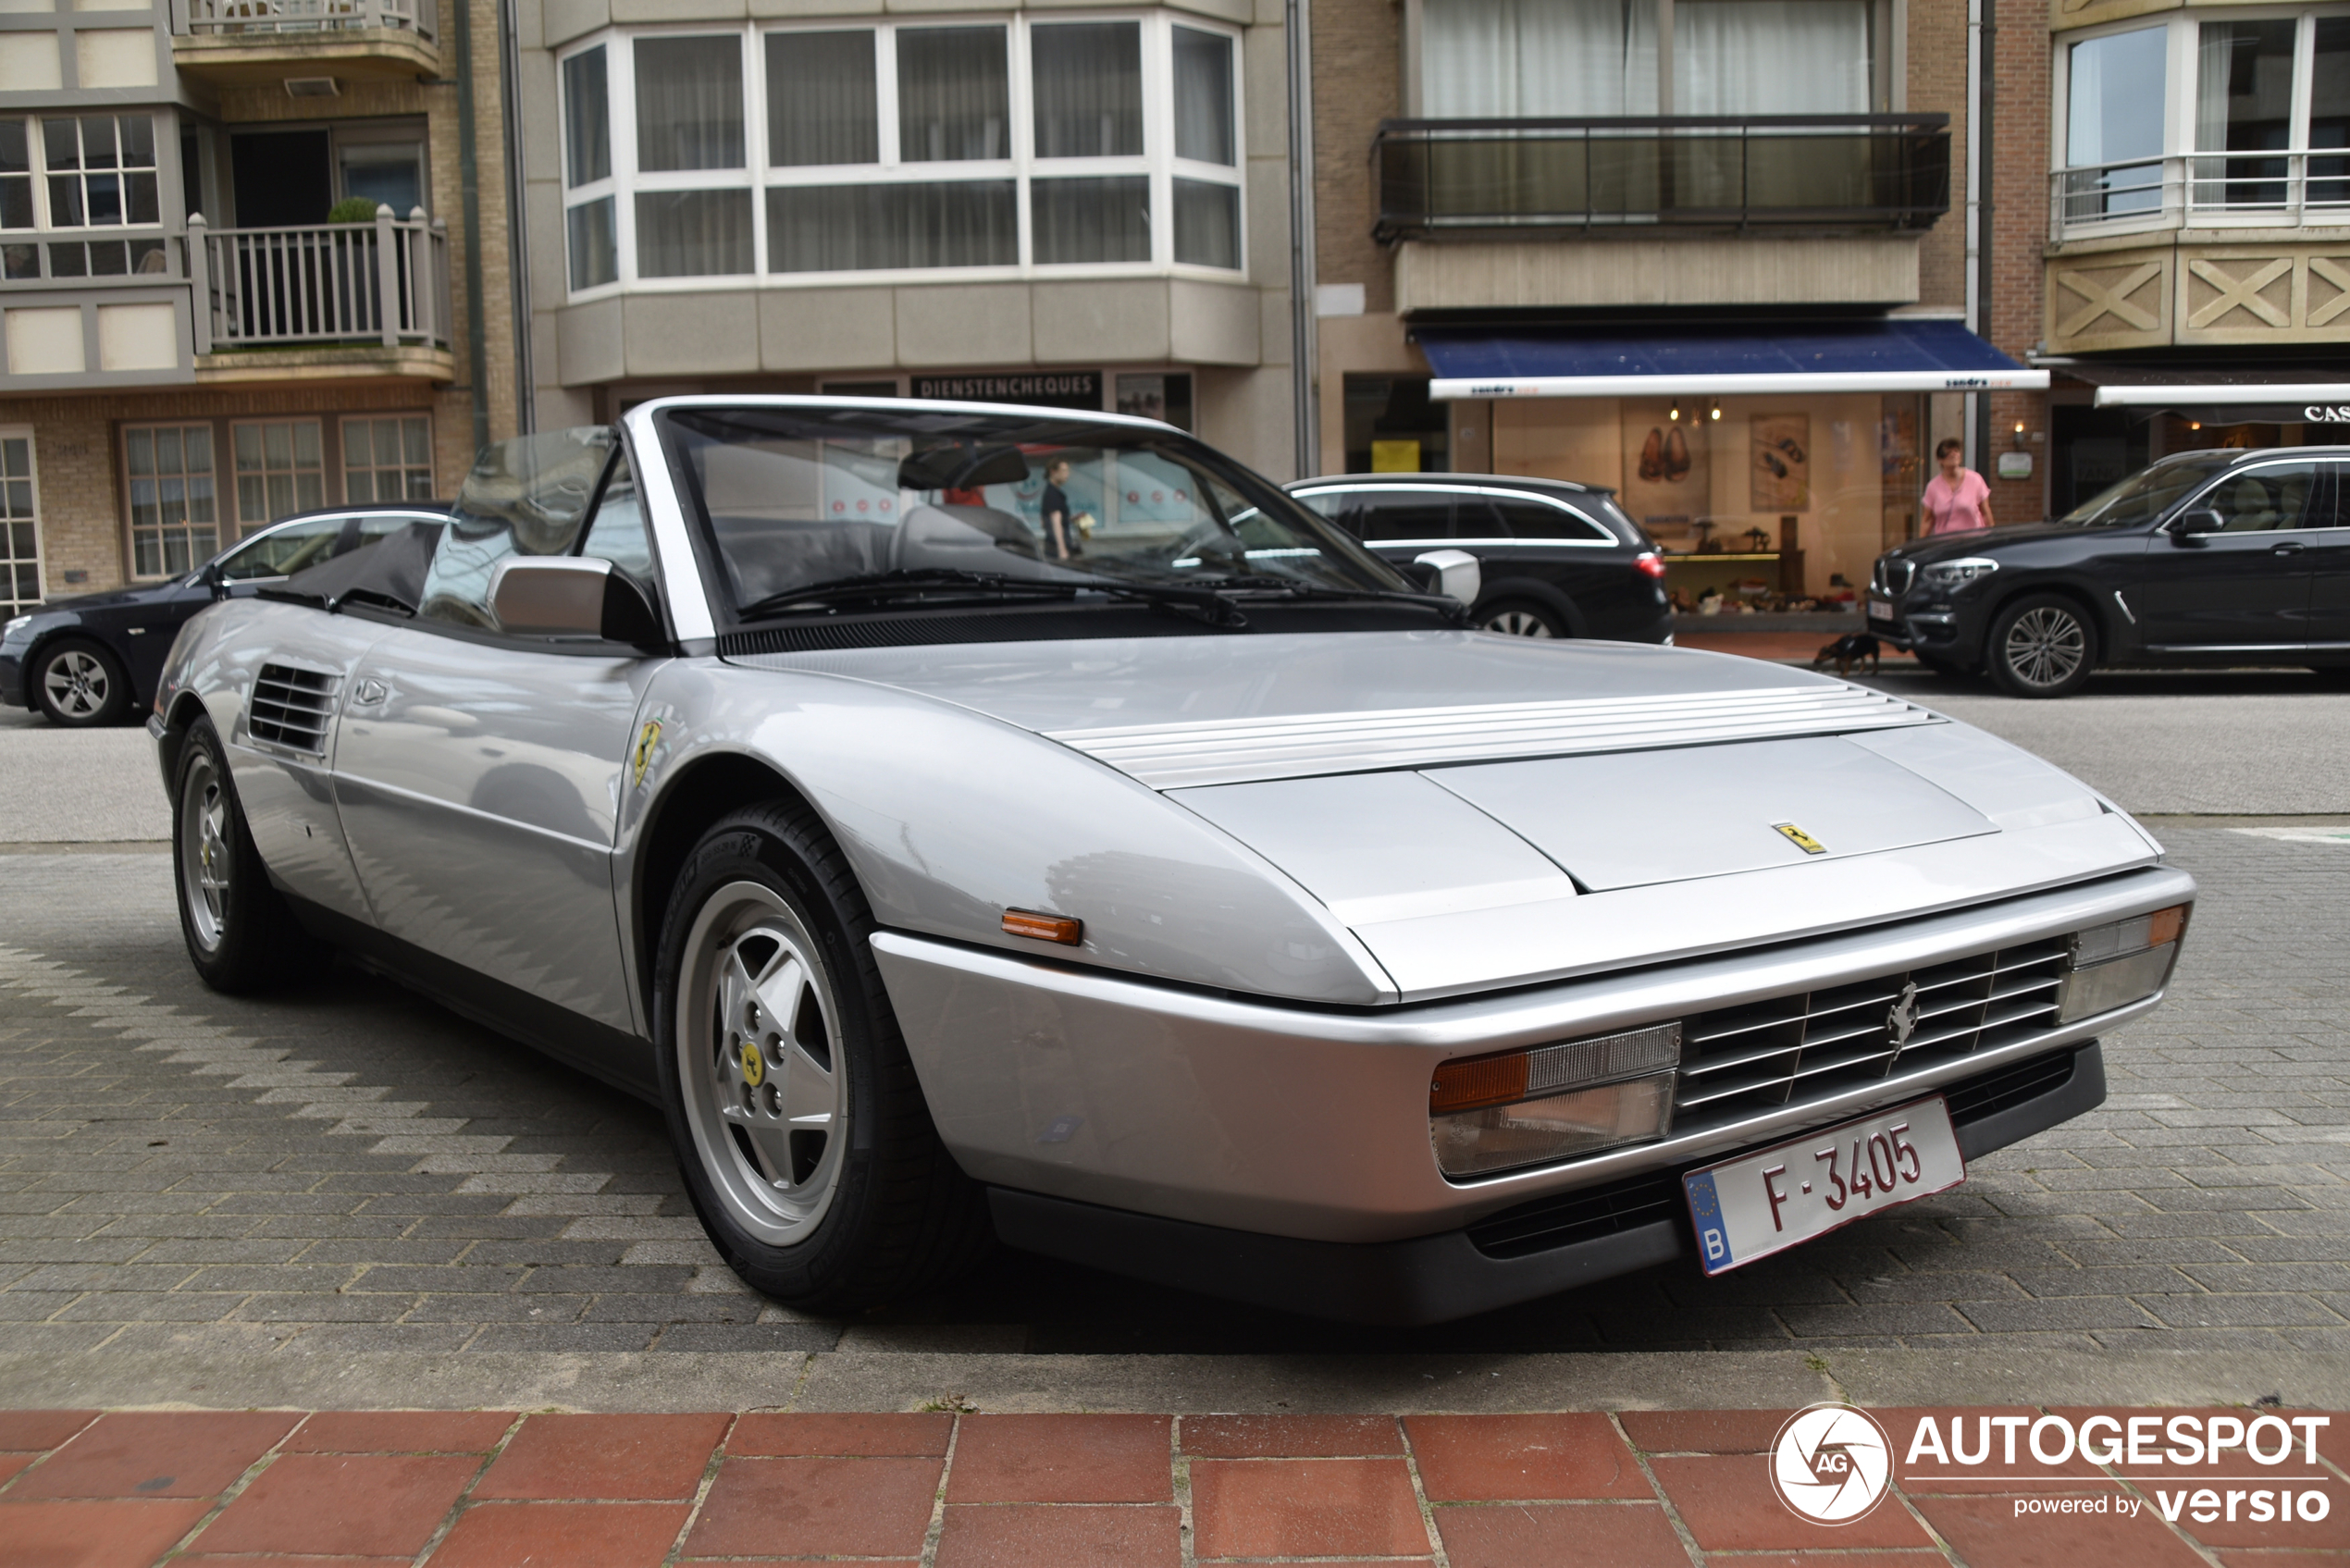
[[[2049,353],[2350,343],[2350,150],[2049,174]]]

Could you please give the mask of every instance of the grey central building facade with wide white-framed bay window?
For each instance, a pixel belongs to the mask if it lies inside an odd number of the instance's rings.
[[[978,397],[1288,473],[1276,0],[515,9],[540,425]]]

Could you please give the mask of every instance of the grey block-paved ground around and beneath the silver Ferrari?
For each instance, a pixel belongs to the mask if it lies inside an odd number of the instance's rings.
[[[2350,1349],[2350,846],[2171,839],[2204,900],[2171,1004],[2108,1041],[2106,1110],[1720,1281],[1422,1333],[1020,1253],[797,1319],[700,1241],[651,1110],[362,976],[204,992],[160,856],[5,856],[0,1354]]]

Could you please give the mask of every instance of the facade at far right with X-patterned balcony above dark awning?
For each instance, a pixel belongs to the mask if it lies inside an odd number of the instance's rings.
[[[2350,440],[2350,5],[2030,21],[2049,510],[2169,451]]]

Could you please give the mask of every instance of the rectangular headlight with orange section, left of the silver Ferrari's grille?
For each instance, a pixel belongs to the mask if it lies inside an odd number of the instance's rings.
[[[1429,1084],[1436,1166],[1483,1175],[1664,1138],[1678,1065],[1678,1020],[1443,1063]]]

